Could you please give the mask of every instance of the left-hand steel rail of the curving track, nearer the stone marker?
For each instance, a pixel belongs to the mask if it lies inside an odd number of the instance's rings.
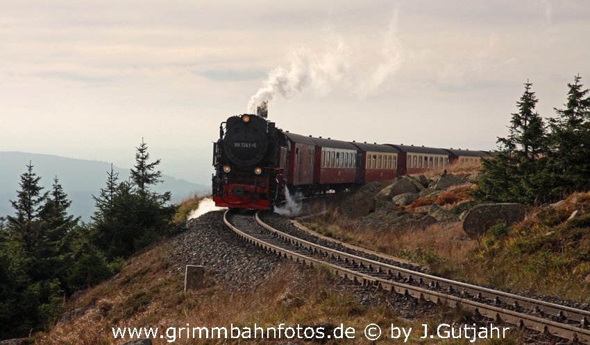
[[[422,300],[433,301],[439,304],[445,304],[446,306],[464,306],[466,308],[470,308],[475,310],[476,313],[483,315],[484,317],[489,317],[491,319],[496,319],[496,321],[505,321],[509,324],[514,324],[519,327],[526,327],[533,330],[538,330],[540,332],[547,332],[553,335],[557,335],[559,337],[563,337],[565,339],[577,339],[580,342],[584,342],[590,344],[590,330],[580,328],[577,326],[572,326],[569,324],[562,324],[556,321],[542,319],[540,317],[536,317],[534,315],[529,315],[521,312],[516,312],[513,310],[507,310],[500,308],[498,306],[490,306],[489,304],[480,303],[479,301],[473,301],[471,299],[464,299],[462,297],[453,296],[452,294],[446,292],[439,292],[434,290],[428,290],[425,288],[421,288],[415,285],[409,285],[406,283],[399,283],[396,281],[391,281],[384,278],[379,278],[375,276],[371,276],[366,273],[357,272],[353,269],[348,269],[346,267],[340,267],[333,263],[328,263],[324,260],[319,260],[317,258],[312,258],[309,254],[298,253],[297,251],[293,251],[287,249],[285,247],[280,247],[278,245],[273,245],[272,243],[267,242],[265,239],[256,238],[251,234],[248,234],[237,227],[235,227],[229,220],[228,220],[228,212],[224,213],[224,222],[225,224],[232,229],[237,235],[244,240],[251,242],[253,245],[257,247],[262,247],[267,251],[272,251],[274,254],[278,254],[285,258],[291,258],[292,260],[296,260],[303,264],[307,265],[328,265],[330,269],[332,269],[336,274],[339,276],[344,276],[346,278],[355,280],[355,281],[362,281],[364,285],[373,285],[379,289],[389,290],[391,293],[400,293],[400,294],[408,294],[412,297]],[[255,219],[257,222],[260,220],[258,214],[256,215]],[[260,224],[260,223],[259,223]],[[262,225],[262,224],[261,224]],[[268,226],[268,225],[267,225]],[[267,229],[267,227],[264,227]],[[268,229],[267,229],[268,230]],[[276,230],[276,229],[275,229]],[[280,231],[278,231],[280,233]],[[276,233],[278,237],[278,233]],[[286,234],[285,234],[286,235]],[[283,237],[282,240],[287,241],[287,238]],[[289,239],[290,240],[290,239]],[[294,242],[296,246],[296,242]],[[313,244],[311,244],[313,245]],[[317,245],[313,245],[317,246]],[[321,247],[321,246],[318,246]],[[324,247],[322,247],[324,248]],[[295,248],[298,249],[298,248]],[[312,251],[312,254],[320,254],[326,256],[328,254],[327,251],[317,251],[313,248],[305,247],[307,251]],[[299,249],[301,250],[301,249]],[[332,249],[329,249],[332,252]],[[344,254],[344,253],[342,253]],[[349,255],[349,254],[346,254]],[[332,256],[334,258],[334,256]],[[340,258],[342,260],[342,258]],[[416,273],[416,272],[414,272]]]

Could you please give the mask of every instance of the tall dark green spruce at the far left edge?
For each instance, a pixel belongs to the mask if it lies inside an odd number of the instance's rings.
[[[8,216],[8,238],[1,244],[5,255],[0,261],[8,266],[0,275],[9,280],[1,286],[2,298],[8,299],[10,319],[0,318],[0,335],[26,335],[31,328],[47,324],[59,315],[63,301],[56,278],[56,247],[43,217],[49,192],[43,193],[33,164],[26,167],[17,200],[11,201],[15,215]]]

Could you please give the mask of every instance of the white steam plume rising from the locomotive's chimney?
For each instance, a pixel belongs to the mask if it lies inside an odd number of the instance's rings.
[[[290,56],[288,67],[270,71],[264,85],[250,98],[248,113],[280,95],[291,98],[310,88],[316,94],[326,95],[336,87],[364,98],[372,94],[389,76],[395,73],[403,60],[403,48],[397,37],[397,12],[380,39],[349,39],[329,33],[325,48],[298,46]]]

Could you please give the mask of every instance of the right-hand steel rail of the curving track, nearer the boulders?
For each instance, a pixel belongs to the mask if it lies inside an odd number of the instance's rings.
[[[547,313],[558,319],[566,318],[575,321],[578,324],[588,324],[588,321],[590,320],[589,310],[580,310],[568,306],[560,306],[556,303],[532,299],[530,297],[524,297],[518,294],[511,294],[509,292],[483,288],[477,285],[463,283],[460,281],[452,281],[450,279],[432,276],[430,274],[425,274],[422,272],[412,271],[411,269],[405,269],[403,267],[397,267],[394,265],[388,265],[386,263],[380,263],[378,261],[371,260],[368,258],[362,258],[360,256],[355,256],[353,254],[348,254],[335,249],[323,247],[321,245],[317,245],[307,240],[303,240],[301,238],[289,235],[288,233],[284,233],[282,231],[274,229],[260,218],[259,213],[256,213],[255,220],[258,222],[258,224],[260,224],[268,231],[276,233],[277,236],[280,236],[282,238],[291,240],[297,243],[298,245],[301,245],[302,247],[306,247],[311,250],[322,251],[336,257],[339,256],[343,260],[349,260],[352,263],[364,267],[369,267],[369,269],[375,269],[378,272],[387,272],[391,275],[397,275],[399,278],[406,278],[410,281],[421,281],[423,284],[437,287],[442,290],[448,290],[449,292],[459,290],[464,292],[464,294],[469,293],[473,295],[473,297],[477,297],[480,300],[487,299],[489,301],[493,301],[495,304],[505,303],[514,306],[514,308],[528,308],[529,310],[539,312],[541,314]]]

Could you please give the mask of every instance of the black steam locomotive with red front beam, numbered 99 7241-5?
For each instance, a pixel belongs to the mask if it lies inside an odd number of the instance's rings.
[[[258,115],[232,116],[219,127],[214,143],[213,200],[217,206],[269,209],[285,188],[285,137],[267,121],[265,107]]]

